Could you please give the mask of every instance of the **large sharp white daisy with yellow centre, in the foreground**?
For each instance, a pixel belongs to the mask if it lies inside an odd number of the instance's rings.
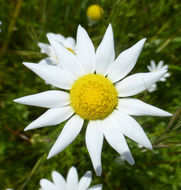
[[[61,68],[49,65],[24,63],[42,79],[60,88],[25,96],[15,102],[49,108],[30,123],[25,130],[66,124],[49,152],[51,158],[64,150],[80,133],[84,120],[86,146],[97,175],[101,175],[101,151],[104,137],[130,164],[134,159],[125,136],[152,149],[141,126],[131,116],[172,114],[129,98],[143,92],[166,71],[138,73],[124,78],[135,66],[146,39],[123,51],[116,59],[111,24],[96,52],[87,32],[81,26],[77,31],[76,55],[47,35]],[[66,89],[67,92],[61,89]]]

